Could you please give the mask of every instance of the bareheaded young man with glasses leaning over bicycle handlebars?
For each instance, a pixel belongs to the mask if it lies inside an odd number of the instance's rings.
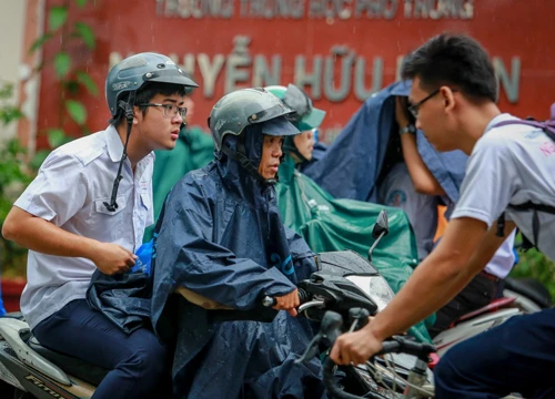
[[[440,245],[384,311],[340,337],[335,361],[364,362],[382,341],[451,300],[486,265],[515,225],[555,259],[555,156],[548,134],[496,105],[490,58],[473,39],[442,34],[411,54],[416,127],[438,151],[470,155],[461,197]],[[539,209],[518,205],[535,204]],[[551,209],[551,211],[549,211]],[[505,214],[505,223],[500,216]],[[451,349],[435,372],[436,398],[553,397],[555,309],[513,317]]]

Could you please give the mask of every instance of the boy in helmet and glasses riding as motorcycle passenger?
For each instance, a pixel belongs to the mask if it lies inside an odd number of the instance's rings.
[[[150,329],[120,330],[89,308],[85,293],[97,269],[114,275],[134,265],[153,221],[152,151],[173,149],[185,88],[196,84],[157,53],[121,61],[105,83],[110,126],[52,151],[2,234],[29,248],[21,311],[37,339],[111,370],[94,398],[152,398],[165,348]]]

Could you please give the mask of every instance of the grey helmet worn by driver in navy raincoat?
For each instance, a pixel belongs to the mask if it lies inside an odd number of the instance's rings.
[[[215,150],[222,150],[223,139],[228,134],[240,135],[250,124],[266,122],[292,113],[294,113],[293,110],[261,88],[241,89],[225,94],[212,108],[209,117]],[[283,135],[286,134],[284,132]],[[295,130],[294,134],[299,134],[299,131]]]

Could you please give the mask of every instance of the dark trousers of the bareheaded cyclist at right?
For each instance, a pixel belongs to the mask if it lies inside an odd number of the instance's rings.
[[[448,350],[434,370],[435,398],[555,398],[555,308],[515,316]]]

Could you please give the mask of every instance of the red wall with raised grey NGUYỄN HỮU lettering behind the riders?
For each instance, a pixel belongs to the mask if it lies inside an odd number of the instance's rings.
[[[59,1],[47,0],[47,4]],[[443,31],[466,32],[491,53],[501,106],[547,117],[555,100],[555,13],[549,0],[97,0],[79,17],[93,27],[92,57],[73,49],[103,88],[109,65],[131,53],[171,55],[193,73],[193,123],[205,125],[224,92],[295,82],[327,111],[330,141],[364,99],[397,78],[403,54]],[[72,16],[77,17],[75,14]],[[44,58],[58,43],[46,47]],[[56,125],[54,73],[44,69],[39,131]],[[84,99],[92,131],[109,119],[104,99]],[[68,126],[71,130],[71,126]]]

